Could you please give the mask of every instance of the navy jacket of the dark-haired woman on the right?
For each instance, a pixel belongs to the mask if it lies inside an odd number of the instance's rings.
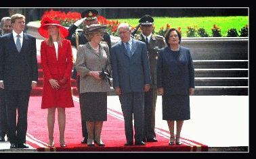
[[[164,93],[188,95],[194,88],[194,67],[190,49],[180,46],[174,53],[169,46],[161,49],[157,61],[157,87]]]

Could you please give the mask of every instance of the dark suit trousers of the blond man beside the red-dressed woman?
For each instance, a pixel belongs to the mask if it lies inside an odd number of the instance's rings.
[[[11,144],[26,143],[26,131],[28,127],[28,100],[30,90],[5,90],[7,108],[7,132]],[[18,121],[16,123],[16,110],[18,109]]]

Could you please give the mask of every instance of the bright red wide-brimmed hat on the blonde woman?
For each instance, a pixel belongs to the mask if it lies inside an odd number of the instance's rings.
[[[41,26],[38,28],[39,34],[45,38],[49,38],[48,34],[48,26],[57,26],[60,28],[60,34],[62,34],[63,38],[66,38],[68,36],[68,29],[66,29],[64,26],[60,24],[60,21],[58,20],[51,20],[48,17],[43,18],[41,20]]]

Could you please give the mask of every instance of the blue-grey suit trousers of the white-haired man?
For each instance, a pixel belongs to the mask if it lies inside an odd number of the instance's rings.
[[[119,96],[119,100],[125,119],[127,142],[133,142],[133,117],[135,141],[142,141],[144,131],[144,92],[123,93]]]

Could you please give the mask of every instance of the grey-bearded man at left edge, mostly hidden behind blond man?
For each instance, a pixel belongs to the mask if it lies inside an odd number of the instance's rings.
[[[0,22],[0,36],[12,32],[12,24],[10,17],[3,17]],[[0,88],[0,141],[5,141],[5,135],[7,135],[7,115],[6,115],[6,102],[5,93]],[[7,141],[9,141],[7,137]]]

